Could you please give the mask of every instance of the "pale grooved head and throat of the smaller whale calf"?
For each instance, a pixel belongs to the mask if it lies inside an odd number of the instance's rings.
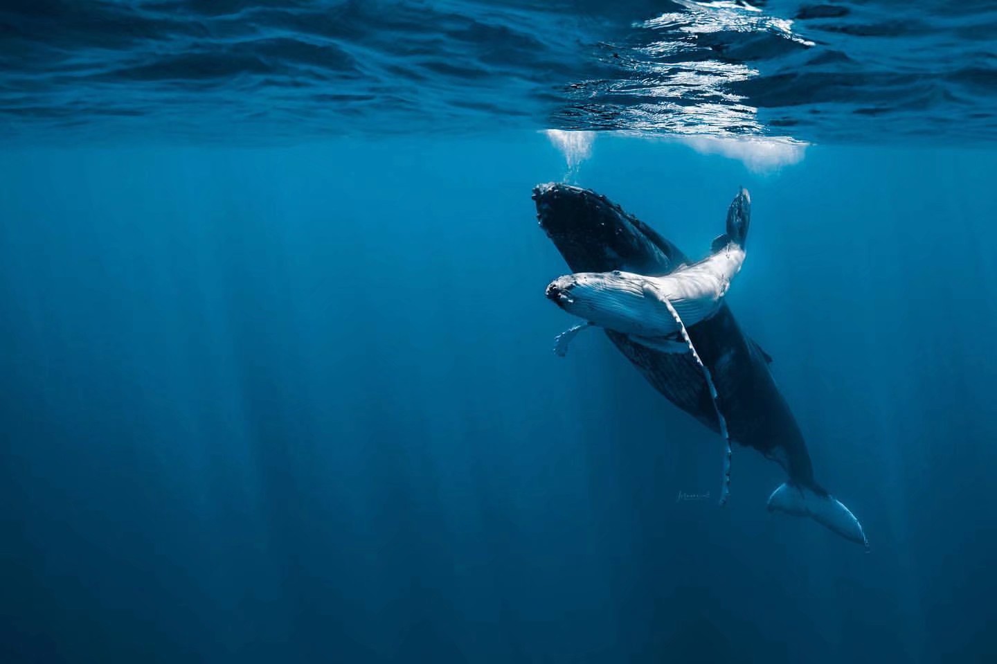
[[[662,315],[660,305],[645,295],[639,274],[576,272],[547,286],[547,299],[561,309],[599,327],[624,334],[646,334]]]

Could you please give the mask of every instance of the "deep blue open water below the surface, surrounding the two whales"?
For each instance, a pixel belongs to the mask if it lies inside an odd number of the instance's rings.
[[[599,139],[705,247],[871,552],[601,337],[550,352],[542,136],[0,163],[5,661],[992,661],[997,272],[971,151],[757,175]]]

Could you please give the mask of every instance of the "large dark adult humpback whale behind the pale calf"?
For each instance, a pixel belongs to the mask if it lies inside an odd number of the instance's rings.
[[[533,189],[533,200],[540,227],[572,272],[625,270],[663,275],[690,262],[653,228],[588,189],[540,184]],[[770,510],[811,516],[867,548],[858,519],[815,480],[803,433],[769,371],[772,359],[744,334],[727,303],[722,302],[716,313],[691,325],[687,332],[713,386],[694,354],[664,352],[605,330],[669,401],[714,432],[721,433],[726,421],[731,440],[758,450],[786,469],[789,481],[769,498]]]

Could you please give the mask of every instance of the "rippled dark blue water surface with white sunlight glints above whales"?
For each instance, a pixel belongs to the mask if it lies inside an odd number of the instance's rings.
[[[989,0],[7,0],[0,31],[8,139],[997,138]]]

